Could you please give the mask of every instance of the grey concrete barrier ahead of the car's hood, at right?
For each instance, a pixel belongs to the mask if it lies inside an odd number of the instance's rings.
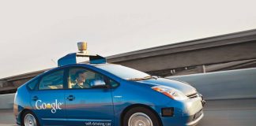
[[[167,78],[190,83],[206,100],[256,98],[256,68]]]

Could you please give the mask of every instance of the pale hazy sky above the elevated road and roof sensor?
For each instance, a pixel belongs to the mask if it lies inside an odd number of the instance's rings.
[[[56,67],[86,41],[111,56],[256,28],[254,0],[0,0],[0,78]]]

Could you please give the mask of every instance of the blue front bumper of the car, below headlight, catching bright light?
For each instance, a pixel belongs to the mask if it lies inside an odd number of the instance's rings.
[[[171,102],[168,106],[174,106],[172,117],[161,117],[163,126],[194,126],[204,117],[203,105],[205,101],[201,97],[189,98],[178,103]]]

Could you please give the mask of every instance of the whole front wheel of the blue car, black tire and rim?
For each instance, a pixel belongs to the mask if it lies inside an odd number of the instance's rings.
[[[124,116],[123,126],[160,126],[156,115],[150,109],[136,107]]]

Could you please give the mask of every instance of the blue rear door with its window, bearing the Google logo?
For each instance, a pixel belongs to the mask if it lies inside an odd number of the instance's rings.
[[[63,124],[66,120],[63,78],[64,69],[49,72],[40,78],[36,91],[32,91],[33,111],[44,125]]]

